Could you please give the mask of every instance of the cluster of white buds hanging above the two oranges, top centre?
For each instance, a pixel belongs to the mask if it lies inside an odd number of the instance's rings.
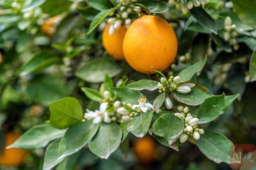
[[[122,0],[120,2],[120,6],[117,9],[116,17],[109,18],[108,23],[110,23],[109,28],[109,35],[113,35],[115,31],[122,26],[122,24],[125,24],[125,27],[128,29],[131,24],[131,19],[129,18],[130,13],[140,13],[141,7],[135,6],[134,2],[137,2],[138,0]],[[109,16],[112,16],[114,14],[111,13]]]

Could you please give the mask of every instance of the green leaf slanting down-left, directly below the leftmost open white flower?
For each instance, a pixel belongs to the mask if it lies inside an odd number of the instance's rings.
[[[61,138],[59,145],[59,158],[72,155],[81,150],[91,139],[93,139],[99,128],[99,124],[93,124],[92,120],[77,123],[70,127]]]

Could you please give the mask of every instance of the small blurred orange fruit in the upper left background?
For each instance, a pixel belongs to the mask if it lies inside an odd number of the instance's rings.
[[[47,18],[41,26],[41,32],[49,38],[53,38],[56,31],[57,23],[61,20],[61,15],[56,15],[51,18]]]

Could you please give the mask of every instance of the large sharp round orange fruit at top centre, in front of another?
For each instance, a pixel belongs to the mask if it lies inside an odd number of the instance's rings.
[[[153,15],[132,22],[123,42],[126,61],[142,73],[165,70],[173,62],[177,49],[177,38],[170,24]]]

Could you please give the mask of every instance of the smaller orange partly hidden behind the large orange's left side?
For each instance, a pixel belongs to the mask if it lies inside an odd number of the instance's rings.
[[[113,35],[109,35],[110,24],[107,24],[102,34],[102,43],[105,50],[117,60],[124,60],[123,40],[126,32],[125,26],[118,28]]]

